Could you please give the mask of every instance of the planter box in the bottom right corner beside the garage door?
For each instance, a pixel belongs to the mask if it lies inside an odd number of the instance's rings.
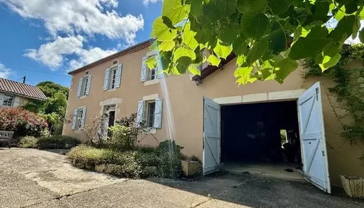
[[[364,198],[364,178],[340,175],[340,181],[347,195],[352,198]]]

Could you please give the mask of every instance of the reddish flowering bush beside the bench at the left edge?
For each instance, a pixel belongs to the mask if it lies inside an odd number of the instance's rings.
[[[47,128],[46,120],[34,112],[20,107],[0,109],[0,130],[14,131],[14,137],[40,137]]]

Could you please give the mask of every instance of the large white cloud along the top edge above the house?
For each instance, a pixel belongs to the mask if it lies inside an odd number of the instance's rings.
[[[156,1],[156,0],[152,0]],[[21,17],[40,19],[53,37],[68,35],[106,35],[132,43],[144,26],[142,15],[121,16],[114,10],[117,0],[0,0]]]

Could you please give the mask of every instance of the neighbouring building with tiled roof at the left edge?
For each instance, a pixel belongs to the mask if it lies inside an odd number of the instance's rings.
[[[38,87],[0,78],[0,109],[24,106],[30,100],[45,101],[46,96]]]

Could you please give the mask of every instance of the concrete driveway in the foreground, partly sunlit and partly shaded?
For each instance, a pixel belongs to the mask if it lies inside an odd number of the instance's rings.
[[[118,179],[35,149],[0,148],[0,182],[0,207],[364,207],[306,182],[257,175]]]

